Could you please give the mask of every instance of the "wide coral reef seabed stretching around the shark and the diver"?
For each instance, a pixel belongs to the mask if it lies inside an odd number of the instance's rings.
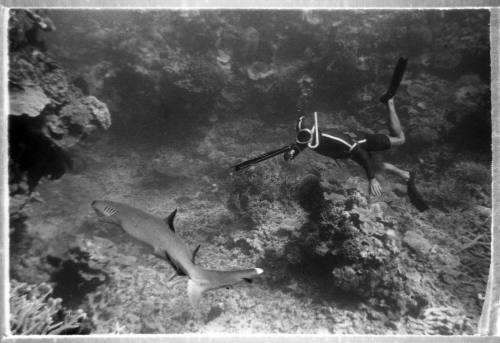
[[[12,13],[14,279],[52,282],[95,333],[474,332],[490,258],[488,11]],[[399,54],[407,142],[384,158],[417,170],[429,211],[404,181],[380,176],[374,198],[359,166],[307,150],[231,173],[293,143],[298,114],[387,132],[377,99]],[[110,110],[110,132],[78,144]],[[179,208],[200,265],[263,278],[193,313],[185,279],[95,220],[101,198]]]

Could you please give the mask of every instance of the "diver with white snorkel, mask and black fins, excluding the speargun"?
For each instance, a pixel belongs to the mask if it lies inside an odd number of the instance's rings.
[[[315,124],[311,129],[304,125],[305,118],[301,116],[296,125],[296,143],[284,153],[285,160],[293,160],[307,147],[316,153],[333,159],[351,159],[365,170],[369,182],[369,193],[375,196],[382,194],[382,187],[376,178],[376,172],[387,171],[393,173],[405,180],[408,196],[415,207],[419,211],[428,209],[429,207],[416,189],[415,172],[400,169],[386,162],[378,163],[371,154],[372,151],[385,151],[405,143],[405,134],[394,106],[394,95],[402,80],[406,63],[406,59],[399,59],[390,87],[386,94],[380,98],[380,102],[386,104],[388,109],[389,135],[363,133],[363,139],[357,139],[359,137],[349,132],[331,130],[326,133],[319,130],[316,114]]]

